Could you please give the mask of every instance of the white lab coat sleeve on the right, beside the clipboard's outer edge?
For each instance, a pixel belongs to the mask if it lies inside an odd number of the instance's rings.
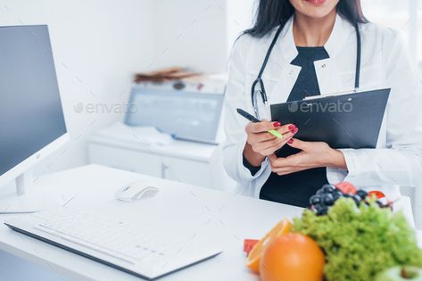
[[[386,147],[343,149],[349,170],[344,180],[356,186],[418,186],[422,174],[418,71],[397,32],[386,29],[383,46],[385,83],[392,89],[385,112]]]

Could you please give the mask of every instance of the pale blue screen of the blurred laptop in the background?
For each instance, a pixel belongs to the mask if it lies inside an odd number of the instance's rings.
[[[176,138],[213,143],[223,100],[224,95],[134,87],[126,124],[152,126]]]

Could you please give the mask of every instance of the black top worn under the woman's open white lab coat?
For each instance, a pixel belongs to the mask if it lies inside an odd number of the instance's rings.
[[[287,101],[302,100],[306,96],[320,95],[317,74],[313,62],[327,59],[329,56],[324,47],[297,47],[298,55],[291,64],[302,67]],[[299,128],[300,129],[300,128]],[[283,146],[278,157],[286,157],[300,151]],[[244,166],[255,174],[259,168],[252,167],[245,159]],[[269,179],[261,188],[260,198],[264,200],[282,202],[290,205],[308,207],[309,198],[317,190],[327,184],[327,169],[307,169],[293,174],[278,176],[271,173]]]

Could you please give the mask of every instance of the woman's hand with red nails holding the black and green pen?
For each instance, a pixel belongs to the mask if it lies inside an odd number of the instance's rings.
[[[283,138],[269,134],[270,129],[277,130]],[[249,123],[245,128],[247,134],[244,146],[244,157],[255,167],[261,166],[265,157],[277,152],[297,133],[298,128],[293,124],[281,126],[279,122],[262,120],[259,123]]]

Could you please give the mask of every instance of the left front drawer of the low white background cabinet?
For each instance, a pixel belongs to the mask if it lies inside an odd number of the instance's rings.
[[[94,164],[162,177],[160,157],[150,153],[91,143],[88,144],[88,157],[89,161]]]

